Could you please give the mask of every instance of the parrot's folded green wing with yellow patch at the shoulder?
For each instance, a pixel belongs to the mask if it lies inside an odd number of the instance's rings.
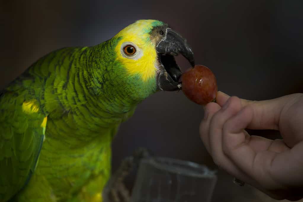
[[[28,183],[38,162],[47,117],[28,93],[0,93],[0,202]]]

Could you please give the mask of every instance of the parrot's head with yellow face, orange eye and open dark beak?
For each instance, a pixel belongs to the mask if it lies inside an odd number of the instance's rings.
[[[138,20],[115,37],[115,61],[122,64],[128,86],[145,99],[152,93],[181,89],[181,70],[174,56],[183,55],[194,66],[194,54],[186,40],[168,24]],[[113,43],[112,43],[113,44]]]

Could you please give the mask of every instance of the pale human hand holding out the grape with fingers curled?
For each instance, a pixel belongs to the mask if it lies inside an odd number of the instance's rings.
[[[245,129],[279,130],[283,139]],[[201,139],[220,169],[275,199],[303,198],[303,94],[250,101],[218,92],[205,106]],[[240,188],[240,187],[239,187]]]

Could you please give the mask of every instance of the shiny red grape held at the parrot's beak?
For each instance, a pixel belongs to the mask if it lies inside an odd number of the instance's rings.
[[[217,95],[217,80],[208,67],[195,65],[182,74],[182,91],[191,101],[206,105],[214,101]]]

